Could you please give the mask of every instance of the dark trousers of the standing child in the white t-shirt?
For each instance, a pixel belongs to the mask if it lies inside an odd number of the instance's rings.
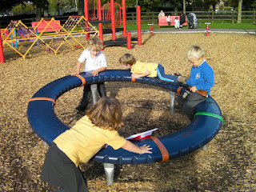
[[[97,90],[101,98],[106,97],[106,87],[104,82],[97,83]],[[81,110],[86,110],[90,100],[90,95],[91,95],[90,85],[85,85],[83,88],[82,100],[80,102],[80,106],[78,106]]]

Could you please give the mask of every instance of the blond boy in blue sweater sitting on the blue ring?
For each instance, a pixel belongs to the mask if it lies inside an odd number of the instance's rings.
[[[190,78],[184,82],[191,86],[189,94],[179,95],[177,102],[182,106],[182,110],[192,121],[195,113],[195,106],[206,100],[206,97],[195,93],[197,90],[206,90],[210,95],[210,88],[214,86],[214,70],[204,59],[205,53],[201,46],[191,46],[186,53],[188,61],[192,67]]]

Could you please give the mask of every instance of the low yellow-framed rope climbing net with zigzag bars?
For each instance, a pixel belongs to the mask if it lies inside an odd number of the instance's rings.
[[[8,47],[15,54],[25,59],[26,54],[28,54],[35,44],[41,46],[43,50],[53,52],[56,55],[64,42],[69,43],[72,48],[75,44],[78,44],[77,47],[84,49],[85,47],[78,39],[83,34],[92,34],[93,36],[98,34],[98,30],[87,22],[83,16],[70,16],[63,26],[54,18],[42,18],[40,22],[32,22],[32,26],[32,28],[28,28],[22,21],[11,21],[9,26],[3,30],[3,46]],[[90,26],[90,29],[87,30],[86,26]],[[78,27],[80,30],[77,30]],[[16,31],[19,30],[22,31],[22,33],[19,33],[22,35],[18,36],[16,35]],[[46,42],[48,38],[51,39],[50,42]],[[22,44],[18,46],[18,42],[22,42]],[[22,50],[26,42],[31,42],[30,46]],[[15,47],[14,43],[16,45]]]

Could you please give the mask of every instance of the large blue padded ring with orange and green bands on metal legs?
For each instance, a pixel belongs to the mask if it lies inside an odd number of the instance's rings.
[[[164,82],[159,78],[131,78],[131,73],[128,70],[106,70],[100,72],[95,77],[85,72],[77,76],[69,75],[43,86],[30,99],[27,108],[27,118],[34,132],[44,142],[50,144],[59,134],[70,129],[69,126],[66,126],[54,114],[56,100],[71,89],[97,82],[139,82],[160,86],[170,90],[171,93],[182,94],[186,91],[178,84]],[[108,184],[112,184],[114,164],[166,162],[171,158],[189,154],[206,146],[218,134],[222,121],[222,114],[218,104],[213,98],[208,97],[205,102],[201,102],[196,106],[194,120],[189,126],[161,138],[152,137],[141,141],[133,141],[138,146],[150,145],[152,147],[152,154],[134,154],[122,149],[114,150],[109,146],[106,149],[100,150],[93,160],[104,163]]]

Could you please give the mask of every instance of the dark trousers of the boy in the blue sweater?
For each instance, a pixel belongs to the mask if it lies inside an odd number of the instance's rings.
[[[182,95],[178,95],[177,102],[178,105],[182,106],[182,110],[185,112],[188,118],[192,121],[195,114],[195,106],[198,103],[206,100],[206,97],[201,94],[190,93],[186,98],[182,98]]]

